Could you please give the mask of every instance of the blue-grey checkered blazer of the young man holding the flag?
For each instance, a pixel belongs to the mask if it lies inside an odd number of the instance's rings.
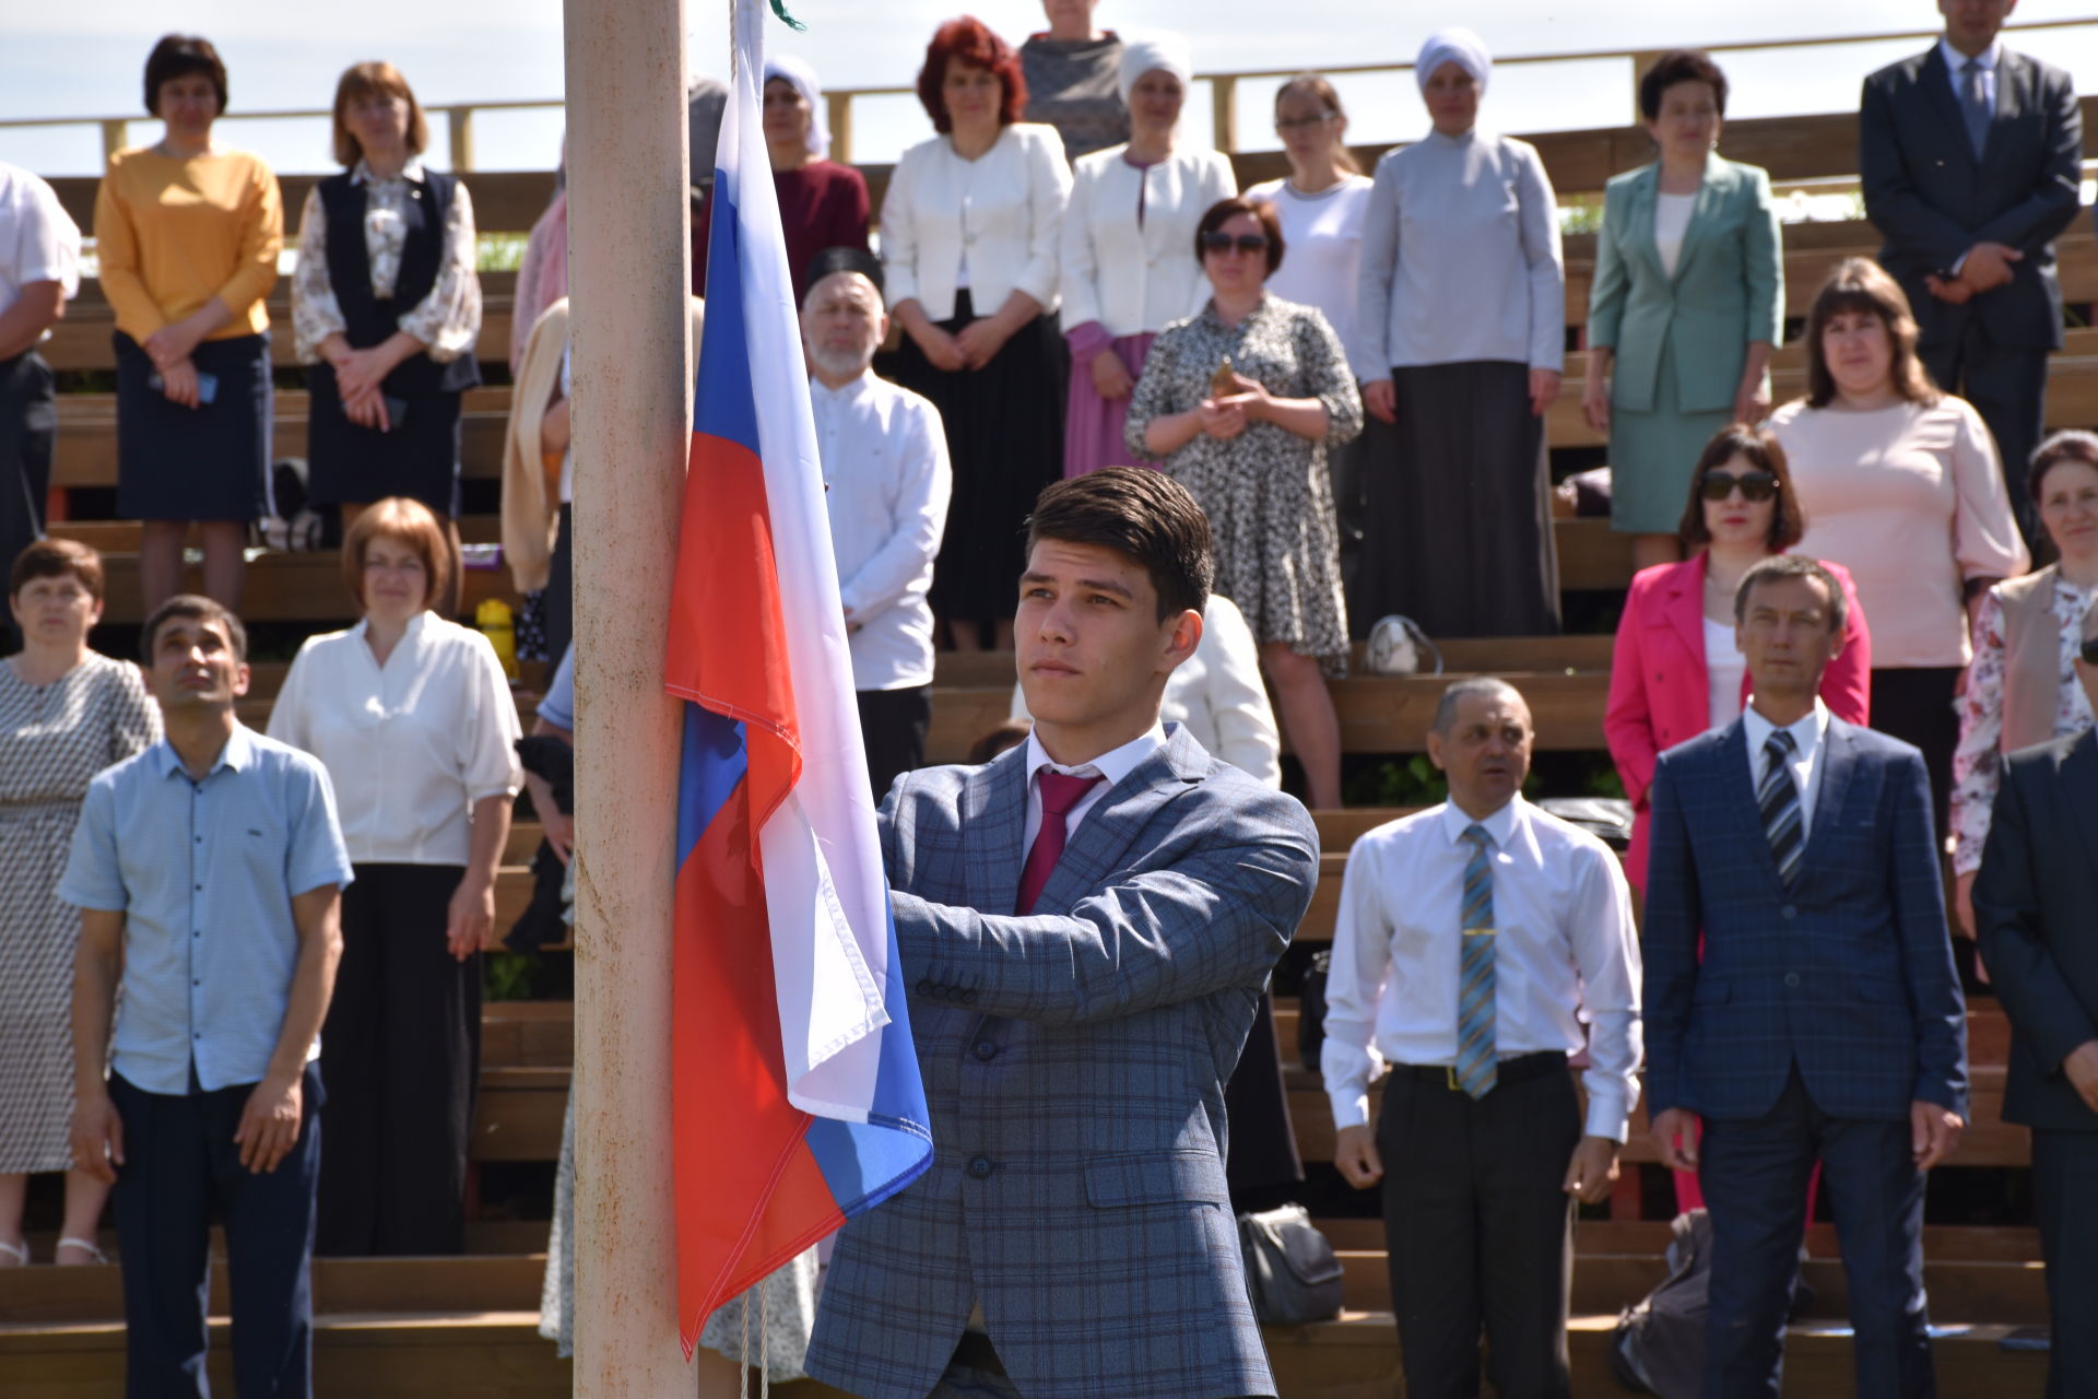
[[[1028,1399],[1273,1395],[1223,1082],[1318,833],[1173,726],[1020,919],[1024,755],[906,772],[883,803],[934,1164],[845,1225],[808,1372],[923,1399],[980,1303]]]

